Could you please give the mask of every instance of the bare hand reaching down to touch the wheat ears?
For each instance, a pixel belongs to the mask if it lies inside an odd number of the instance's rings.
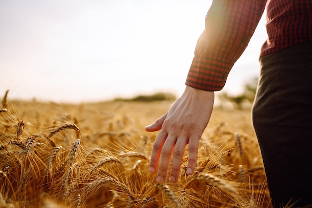
[[[172,104],[168,112],[145,127],[147,131],[160,130],[153,145],[149,169],[152,173],[158,170],[158,183],[165,181],[172,155],[170,182],[177,182],[187,144],[188,164],[186,173],[194,173],[199,139],[210,119],[213,102],[214,92],[186,86],[183,95]]]

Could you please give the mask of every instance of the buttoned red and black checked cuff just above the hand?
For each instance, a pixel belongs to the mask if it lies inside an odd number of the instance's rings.
[[[185,85],[199,90],[220,91],[233,65],[234,63],[195,56]]]

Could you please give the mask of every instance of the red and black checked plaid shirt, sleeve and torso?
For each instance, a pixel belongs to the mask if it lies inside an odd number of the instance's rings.
[[[253,35],[267,4],[268,40],[260,57],[312,41],[312,0],[213,0],[185,84],[219,91]]]

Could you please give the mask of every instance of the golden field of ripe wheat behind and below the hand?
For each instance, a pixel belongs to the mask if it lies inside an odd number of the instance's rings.
[[[4,93],[3,93],[4,94]],[[215,108],[197,168],[158,184],[148,171],[172,102],[0,103],[0,208],[271,208],[250,110]],[[168,177],[167,177],[168,178]]]

